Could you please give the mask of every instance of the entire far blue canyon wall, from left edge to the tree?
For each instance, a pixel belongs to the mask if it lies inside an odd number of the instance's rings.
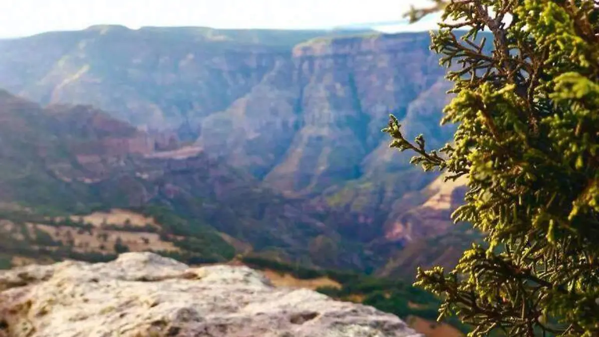
[[[410,134],[437,131],[447,85],[428,46],[426,33],[97,26],[0,41],[0,87],[176,130],[282,191],[310,194],[381,167],[389,113],[411,110]]]

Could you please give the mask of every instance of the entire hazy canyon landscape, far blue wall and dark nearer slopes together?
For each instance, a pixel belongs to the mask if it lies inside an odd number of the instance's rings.
[[[406,246],[450,233],[463,193],[380,132],[394,113],[431,147],[450,139],[429,42],[122,26],[0,40],[0,87],[22,97],[0,95],[0,201],[59,215],[160,206],[236,252],[396,275]],[[423,263],[455,263],[439,254]]]

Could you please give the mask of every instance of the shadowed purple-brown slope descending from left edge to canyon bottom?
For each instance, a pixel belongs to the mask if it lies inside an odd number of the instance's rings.
[[[65,225],[48,222],[47,215],[125,208],[167,219],[166,234],[189,240],[196,252],[205,251],[201,240],[220,233],[242,251],[249,247],[305,264],[364,269],[383,262],[303,213],[302,200],[286,198],[196,148],[156,152],[148,134],[89,106],[41,109],[2,92],[0,116],[0,167],[6,172],[0,201],[29,207],[4,217],[12,223],[8,227],[20,228],[9,228],[16,237],[30,224]]]

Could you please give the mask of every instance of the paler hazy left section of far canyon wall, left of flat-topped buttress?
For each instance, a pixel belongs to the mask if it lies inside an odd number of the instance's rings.
[[[0,41],[0,83],[44,105],[92,104],[134,125],[194,133],[199,119],[229,107],[288,59],[294,44],[326,34],[122,26],[50,32]]]

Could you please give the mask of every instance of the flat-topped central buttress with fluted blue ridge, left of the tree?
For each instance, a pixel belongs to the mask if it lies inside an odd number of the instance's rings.
[[[428,43],[424,34],[401,34],[296,46],[302,128],[267,182],[320,191],[368,171],[364,159],[382,143],[389,113],[404,118],[410,103],[443,77]]]

